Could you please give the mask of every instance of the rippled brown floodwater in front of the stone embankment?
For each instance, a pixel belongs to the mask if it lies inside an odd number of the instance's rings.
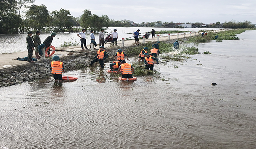
[[[199,44],[212,54],[134,82],[95,67],[0,88],[0,148],[254,149],[255,34]]]

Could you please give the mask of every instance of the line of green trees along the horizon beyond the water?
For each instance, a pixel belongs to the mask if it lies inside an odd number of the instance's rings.
[[[73,17],[69,10],[60,9],[49,12],[44,5],[31,5],[35,0],[1,0],[0,1],[0,34],[24,33],[28,31],[42,32],[78,32],[82,27],[87,30],[100,32],[101,28],[108,27],[131,27],[130,20],[110,20],[107,15],[97,16],[90,10],[82,11],[80,17]],[[21,12],[22,9],[26,11]],[[142,22],[144,24],[145,22]],[[161,21],[146,22],[148,27],[154,27]],[[168,24],[173,22],[164,22]],[[189,23],[189,22],[188,22]],[[201,22],[195,22],[196,26]],[[138,23],[135,23],[138,24]],[[203,24],[203,23],[201,23]],[[210,27],[215,28],[220,22],[213,23]],[[250,21],[236,22],[225,21],[222,28],[255,28]]]

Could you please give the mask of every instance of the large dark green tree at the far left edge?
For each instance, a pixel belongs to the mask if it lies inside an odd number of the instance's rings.
[[[0,1],[0,34],[18,33],[20,17],[16,12],[15,0]]]

